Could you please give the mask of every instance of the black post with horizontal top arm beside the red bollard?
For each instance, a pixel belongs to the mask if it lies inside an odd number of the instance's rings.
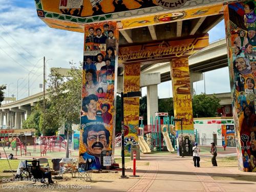
[[[121,137],[122,137],[122,175],[121,178],[128,178],[125,175],[125,170],[124,170],[124,117],[123,117],[123,98],[124,97],[141,97],[141,92],[137,91],[137,92],[127,92],[127,93],[123,93],[121,92]]]

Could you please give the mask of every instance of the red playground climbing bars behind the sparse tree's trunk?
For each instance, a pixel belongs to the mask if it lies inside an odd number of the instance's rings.
[[[35,137],[34,141],[34,153],[39,145],[41,156],[45,156],[47,151],[50,153],[54,152],[55,150],[58,150],[59,152],[61,152],[61,150],[64,151],[67,147],[67,142],[59,135]],[[71,154],[71,151],[69,151],[69,153]]]

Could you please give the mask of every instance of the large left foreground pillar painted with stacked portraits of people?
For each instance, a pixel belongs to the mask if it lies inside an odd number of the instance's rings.
[[[79,166],[86,162],[90,164],[90,169],[101,169],[100,154],[105,150],[112,152],[112,136],[115,134],[113,117],[115,117],[114,84],[117,65],[115,61],[111,65],[110,57],[116,54],[114,48],[117,46],[114,44],[117,44],[117,41],[115,39],[115,42],[111,42],[113,53],[110,52],[105,48],[108,39],[106,34],[118,37],[115,22],[84,27]],[[110,54],[110,57],[106,57],[107,54]]]

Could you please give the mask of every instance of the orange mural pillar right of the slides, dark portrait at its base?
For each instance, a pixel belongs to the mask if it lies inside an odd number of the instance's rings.
[[[188,58],[173,59],[170,62],[170,72],[173,84],[174,116],[176,119],[182,119],[175,122],[176,137],[179,141],[178,155],[192,156],[195,135]]]

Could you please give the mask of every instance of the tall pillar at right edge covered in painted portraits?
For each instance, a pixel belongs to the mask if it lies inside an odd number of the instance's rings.
[[[239,169],[244,172],[256,172],[256,54],[252,51],[256,49],[254,8],[255,1],[247,1],[228,4],[224,9],[234,133]],[[245,54],[236,54],[234,47],[246,50]]]

